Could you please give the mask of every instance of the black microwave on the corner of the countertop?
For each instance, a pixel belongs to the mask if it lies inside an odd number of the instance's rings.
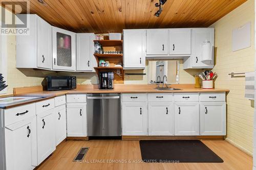
[[[46,88],[50,90],[70,90],[76,88],[76,77],[74,76],[47,76]]]

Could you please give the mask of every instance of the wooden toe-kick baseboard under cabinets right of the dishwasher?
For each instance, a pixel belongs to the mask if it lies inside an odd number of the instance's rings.
[[[122,136],[122,140],[150,140],[150,139],[169,139],[169,140],[224,140],[224,136]]]

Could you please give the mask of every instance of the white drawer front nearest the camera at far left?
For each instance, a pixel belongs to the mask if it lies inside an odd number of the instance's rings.
[[[36,115],[35,103],[4,110],[4,126]]]

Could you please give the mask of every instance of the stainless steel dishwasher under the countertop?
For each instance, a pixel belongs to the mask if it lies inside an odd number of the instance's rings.
[[[121,136],[119,93],[87,94],[88,136]]]

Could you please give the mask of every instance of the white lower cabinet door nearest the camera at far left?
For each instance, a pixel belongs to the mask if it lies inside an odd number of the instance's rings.
[[[20,122],[9,125],[4,128],[4,131],[5,131],[4,152],[5,152],[6,168],[1,167],[0,169],[2,168],[7,170],[33,169],[37,165],[36,116],[32,116]]]

